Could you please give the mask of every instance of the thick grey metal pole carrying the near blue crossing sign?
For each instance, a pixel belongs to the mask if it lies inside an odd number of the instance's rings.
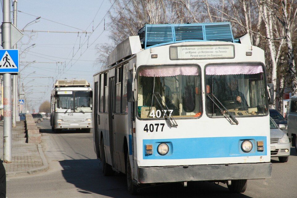
[[[2,47],[11,49],[10,0],[3,0]],[[11,163],[12,159],[12,123],[11,123],[11,74],[3,74],[3,161]]]

